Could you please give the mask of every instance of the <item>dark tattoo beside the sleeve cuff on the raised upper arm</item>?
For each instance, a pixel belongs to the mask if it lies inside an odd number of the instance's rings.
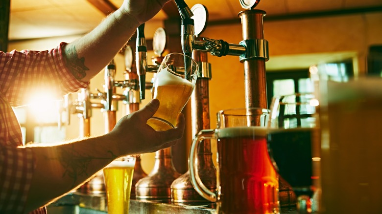
[[[74,46],[72,48],[65,48],[64,58],[66,61],[66,66],[72,72],[75,79],[81,80],[86,76],[85,71],[89,70],[89,68],[85,66],[84,57],[78,58],[77,51]]]

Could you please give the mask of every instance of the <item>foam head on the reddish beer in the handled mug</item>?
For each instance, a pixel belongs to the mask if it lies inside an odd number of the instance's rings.
[[[218,131],[218,136],[223,137],[237,137],[237,136],[259,136],[265,137],[268,128],[266,127],[231,127],[221,128]]]

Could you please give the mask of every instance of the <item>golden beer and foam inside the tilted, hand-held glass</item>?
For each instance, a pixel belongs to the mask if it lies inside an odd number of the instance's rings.
[[[158,99],[160,106],[148,124],[155,130],[174,128],[176,118],[190,99],[192,90],[191,82],[168,67],[158,72],[154,79],[152,99]]]

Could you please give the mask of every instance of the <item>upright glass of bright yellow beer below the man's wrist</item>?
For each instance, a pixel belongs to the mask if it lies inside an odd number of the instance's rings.
[[[135,160],[135,157],[123,157],[103,169],[108,214],[129,213]]]

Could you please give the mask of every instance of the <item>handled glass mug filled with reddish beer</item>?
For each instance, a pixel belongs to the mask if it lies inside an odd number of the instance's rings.
[[[278,214],[278,177],[267,151],[269,110],[238,108],[217,113],[217,128],[201,130],[190,150],[190,177],[196,192],[217,203],[220,214]],[[217,140],[216,192],[200,180],[197,148]]]

